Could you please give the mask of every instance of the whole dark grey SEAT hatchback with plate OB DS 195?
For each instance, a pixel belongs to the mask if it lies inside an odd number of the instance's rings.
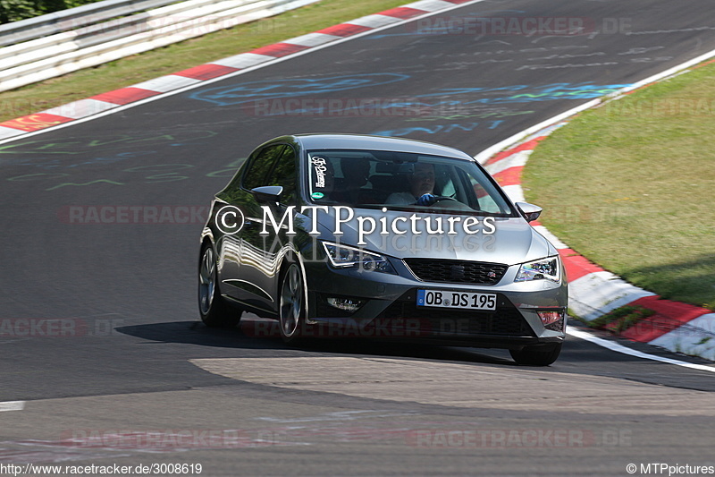
[[[265,142],[218,192],[201,234],[208,326],[242,311],[286,342],[366,336],[509,349],[556,361],[568,287],[559,253],[474,158],[354,134]]]

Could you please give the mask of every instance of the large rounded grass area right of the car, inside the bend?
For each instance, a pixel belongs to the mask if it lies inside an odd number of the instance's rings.
[[[586,111],[525,168],[543,224],[627,281],[715,310],[715,64]]]

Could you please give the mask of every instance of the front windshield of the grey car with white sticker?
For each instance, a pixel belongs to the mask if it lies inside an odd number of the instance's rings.
[[[318,205],[514,215],[473,161],[380,150],[308,151],[307,161],[308,197]]]

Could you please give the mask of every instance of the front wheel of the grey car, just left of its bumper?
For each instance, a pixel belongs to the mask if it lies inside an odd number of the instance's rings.
[[[295,345],[305,341],[306,330],[306,284],[297,263],[288,263],[281,275],[280,284],[278,319],[281,337],[285,343]]]

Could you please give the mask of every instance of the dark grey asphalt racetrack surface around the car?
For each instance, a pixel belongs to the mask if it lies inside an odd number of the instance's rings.
[[[585,30],[475,30],[486,16],[579,18]],[[290,348],[277,333],[204,327],[196,299],[209,200],[262,141],[359,132],[476,154],[713,48],[711,0],[481,2],[0,145],[0,401],[27,401],[0,403],[0,463],[202,464],[203,475],[715,464],[711,372],[574,337],[543,369],[499,350]],[[156,223],[88,218],[120,207]]]

